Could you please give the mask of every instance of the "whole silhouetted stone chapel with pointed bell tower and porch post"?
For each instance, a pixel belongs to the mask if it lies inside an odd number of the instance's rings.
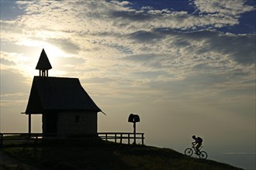
[[[25,114],[42,114],[43,136],[71,137],[97,134],[101,109],[81,87],[78,78],[48,76],[52,69],[44,49],[36,65]]]

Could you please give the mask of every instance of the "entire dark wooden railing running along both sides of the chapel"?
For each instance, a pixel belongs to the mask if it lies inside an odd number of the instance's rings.
[[[128,133],[128,132],[99,132],[98,136],[102,140],[115,141],[123,143],[127,140],[127,144],[130,145],[131,141],[136,144],[137,140],[141,140],[141,145],[144,145],[144,133]],[[46,135],[46,134],[44,134]],[[57,136],[57,134],[47,134],[49,136]],[[43,138],[43,133],[0,133],[0,146],[4,144],[4,141],[34,141],[36,144],[38,139]],[[88,138],[95,138],[95,135]],[[54,138],[52,138],[54,139]],[[65,139],[65,138],[64,138]],[[118,141],[119,140],[119,141]]]

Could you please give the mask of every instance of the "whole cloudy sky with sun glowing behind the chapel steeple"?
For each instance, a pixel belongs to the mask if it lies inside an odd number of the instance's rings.
[[[49,76],[78,77],[106,113],[100,132],[139,114],[146,145],[183,152],[195,134],[209,158],[255,168],[254,0],[0,2],[0,131],[28,131],[44,48]]]

